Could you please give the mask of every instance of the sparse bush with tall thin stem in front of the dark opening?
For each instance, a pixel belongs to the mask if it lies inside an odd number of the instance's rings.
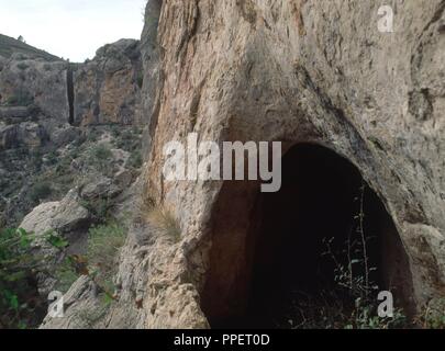
[[[321,260],[327,259],[332,265],[334,280],[316,294],[292,292],[285,302],[287,316],[279,327],[301,329],[392,329],[411,327],[402,309],[394,309],[393,317],[378,316],[379,302],[377,268],[369,259],[369,242],[374,239],[365,233],[364,193],[360,188],[359,210],[354,216],[354,226],[348,239],[335,242],[335,238],[325,237],[326,251]],[[326,263],[327,263],[326,262]],[[319,276],[322,281],[323,276]]]

